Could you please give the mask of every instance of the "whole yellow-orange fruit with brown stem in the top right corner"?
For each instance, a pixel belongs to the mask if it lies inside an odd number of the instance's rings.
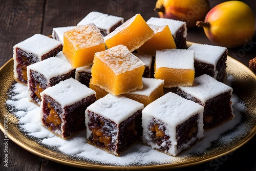
[[[255,15],[252,9],[241,1],[227,1],[212,8],[204,22],[208,39],[216,45],[234,48],[244,45],[255,32]]]

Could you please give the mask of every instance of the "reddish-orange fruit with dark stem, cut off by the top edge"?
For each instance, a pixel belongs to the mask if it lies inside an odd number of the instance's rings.
[[[158,0],[155,8],[160,18],[181,20],[187,28],[195,27],[209,10],[208,0]]]

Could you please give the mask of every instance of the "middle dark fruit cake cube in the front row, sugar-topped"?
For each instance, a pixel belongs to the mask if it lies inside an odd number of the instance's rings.
[[[142,103],[108,94],[86,110],[87,142],[119,156],[142,136]]]

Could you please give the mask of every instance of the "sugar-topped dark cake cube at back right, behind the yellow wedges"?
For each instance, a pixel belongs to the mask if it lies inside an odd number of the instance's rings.
[[[169,18],[151,17],[146,23],[152,29],[167,25],[174,37],[177,49],[187,49],[187,27],[185,22]]]

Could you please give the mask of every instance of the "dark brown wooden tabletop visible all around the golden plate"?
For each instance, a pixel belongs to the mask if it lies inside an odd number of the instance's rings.
[[[211,0],[211,7],[221,3]],[[245,1],[254,10],[254,1]],[[13,46],[35,33],[51,35],[52,28],[75,26],[91,11],[124,17],[127,20],[140,13],[145,20],[158,14],[153,10],[156,1],[128,0],[0,0],[0,66],[13,55]],[[188,29],[188,41],[201,44],[212,43],[202,28]],[[228,49],[228,54],[248,67],[249,59],[256,56],[256,37],[248,44]],[[3,82],[1,82],[3,84]],[[82,170],[33,155],[11,140],[8,142],[8,168],[4,166],[4,134],[0,133],[0,170]],[[177,170],[256,170],[256,136],[236,151],[203,164],[184,167]],[[126,170],[125,168],[123,170]]]

